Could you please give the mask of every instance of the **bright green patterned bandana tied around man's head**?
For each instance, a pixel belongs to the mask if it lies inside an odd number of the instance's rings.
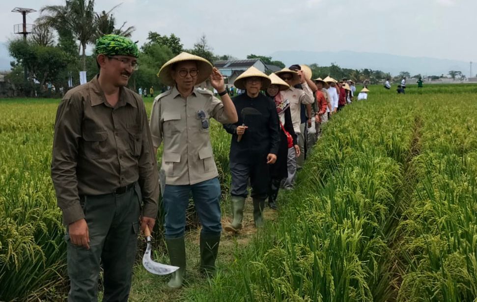
[[[117,34],[107,34],[96,40],[96,55],[130,55],[139,57],[139,49],[131,39]]]

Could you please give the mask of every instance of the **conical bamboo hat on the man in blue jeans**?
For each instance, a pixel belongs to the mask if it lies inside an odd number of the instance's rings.
[[[207,80],[212,74],[213,66],[208,60],[198,55],[192,55],[186,52],[182,52],[179,55],[176,55],[170,60],[168,60],[166,63],[164,63],[164,65],[162,65],[161,69],[159,70],[159,73],[157,74],[159,80],[169,86],[175,85],[175,81],[174,79],[172,79],[170,71],[172,70],[172,66],[175,63],[184,61],[195,61],[197,63],[198,74],[196,85]]]

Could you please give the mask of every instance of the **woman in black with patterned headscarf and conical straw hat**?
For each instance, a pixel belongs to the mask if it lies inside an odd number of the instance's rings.
[[[280,145],[275,164],[270,165],[270,182],[268,186],[268,205],[270,208],[277,209],[277,196],[281,181],[288,176],[288,157],[299,156],[300,147],[298,146],[293,122],[291,120],[290,102],[283,99],[280,91],[288,89],[289,85],[275,74],[268,76],[272,81],[268,87],[266,95],[275,101],[280,125]]]

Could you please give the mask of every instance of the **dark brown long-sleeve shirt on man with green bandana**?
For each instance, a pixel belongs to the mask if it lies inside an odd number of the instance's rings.
[[[142,215],[155,218],[158,178],[139,95],[121,87],[112,108],[97,77],[65,94],[56,112],[52,157],[52,179],[65,225],[84,218],[79,195],[109,194],[135,182],[144,202]]]

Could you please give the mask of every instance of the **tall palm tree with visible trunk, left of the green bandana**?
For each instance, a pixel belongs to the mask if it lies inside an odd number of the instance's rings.
[[[86,44],[96,32],[94,0],[66,0],[63,5],[48,5],[40,9],[47,13],[39,18],[40,23],[46,23],[55,28],[68,27],[80,41],[78,53],[82,52],[83,70],[86,70]]]

